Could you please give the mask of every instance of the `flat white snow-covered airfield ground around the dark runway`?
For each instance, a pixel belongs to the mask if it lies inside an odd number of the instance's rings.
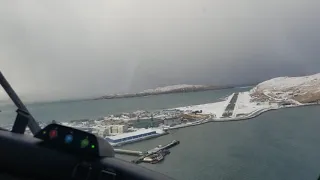
[[[179,110],[179,111],[182,111],[183,114],[189,115],[189,116],[183,117],[183,119],[186,119],[187,122],[181,123],[180,120],[176,119],[177,121],[180,121],[180,123],[175,124],[173,126],[171,126],[170,123],[163,124],[161,126],[158,126],[157,128],[163,130],[164,132],[170,133],[170,130],[186,128],[190,126],[198,126],[201,124],[206,124],[211,122],[233,122],[233,121],[250,120],[262,115],[265,112],[278,110],[278,109],[297,108],[297,107],[315,106],[315,105],[319,105],[319,104],[317,103],[283,104],[281,102],[272,102],[272,101],[257,102],[257,101],[252,101],[252,97],[249,91],[236,92],[227,96],[224,101],[169,109],[169,110]],[[201,111],[200,116],[197,116],[196,112],[199,112],[199,111]],[[207,117],[203,117],[201,115],[205,115]],[[154,137],[150,137],[148,139],[151,139]],[[144,139],[140,139],[139,141],[143,141],[143,140]],[[120,146],[128,143],[134,143],[134,142],[124,142],[124,143],[121,143]]]

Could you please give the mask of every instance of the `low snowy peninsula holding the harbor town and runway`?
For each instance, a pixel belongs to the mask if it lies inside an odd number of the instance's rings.
[[[250,91],[234,92],[219,102],[154,111],[137,110],[108,115],[98,119],[62,122],[62,124],[103,137],[113,147],[119,147],[157,138],[169,134],[171,130],[175,129],[210,122],[247,120],[271,110],[309,105],[295,103],[295,101],[289,101],[286,98],[281,99],[281,97],[277,97],[281,95],[280,93],[257,92],[259,91],[252,89]],[[319,102],[316,102],[316,104],[319,104]],[[116,149],[116,152],[138,157],[146,154],[145,152],[122,149]]]

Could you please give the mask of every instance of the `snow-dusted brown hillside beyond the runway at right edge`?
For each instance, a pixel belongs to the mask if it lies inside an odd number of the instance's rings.
[[[259,100],[316,102],[320,100],[320,73],[270,79],[258,84],[250,93]]]

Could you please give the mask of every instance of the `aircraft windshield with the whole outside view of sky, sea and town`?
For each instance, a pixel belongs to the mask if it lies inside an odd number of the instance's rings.
[[[2,128],[178,180],[319,176],[319,0],[0,1],[0,25]]]

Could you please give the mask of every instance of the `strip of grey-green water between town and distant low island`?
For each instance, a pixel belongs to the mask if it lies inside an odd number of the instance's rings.
[[[127,99],[108,99],[90,101],[65,101],[26,104],[37,121],[50,122],[70,121],[104,117],[109,114],[132,112],[136,110],[158,110],[192,104],[219,101],[219,98],[230,95],[234,91],[245,91],[248,88],[234,88],[215,91],[191,92],[147,96]],[[16,108],[12,104],[0,104],[0,124],[13,122]]]

